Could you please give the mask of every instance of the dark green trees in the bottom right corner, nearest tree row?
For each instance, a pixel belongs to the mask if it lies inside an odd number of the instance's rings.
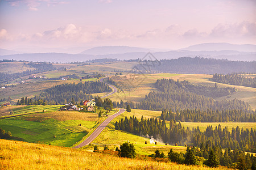
[[[168,152],[168,159],[171,162],[187,165],[197,165],[199,162],[203,162],[203,164],[209,167],[222,165],[234,169],[256,168],[256,158],[253,154],[245,154],[245,152],[237,149],[232,151],[230,148],[226,148],[223,153],[222,148],[215,145],[212,147],[202,145],[198,148],[188,146],[185,154],[174,152],[171,149]]]

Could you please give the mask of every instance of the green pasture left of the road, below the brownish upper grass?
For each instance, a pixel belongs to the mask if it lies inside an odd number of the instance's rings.
[[[31,114],[0,120],[0,127],[23,141],[70,147],[95,128],[97,123],[86,120],[57,121]]]

